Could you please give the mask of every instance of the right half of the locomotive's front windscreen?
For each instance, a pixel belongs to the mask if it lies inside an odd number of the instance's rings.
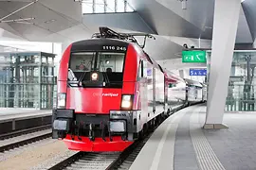
[[[124,53],[99,53],[100,72],[122,73],[124,55]]]

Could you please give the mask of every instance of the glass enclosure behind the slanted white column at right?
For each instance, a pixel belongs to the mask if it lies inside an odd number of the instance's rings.
[[[227,111],[255,111],[256,51],[234,51],[229,76]],[[210,74],[210,52],[208,53]]]

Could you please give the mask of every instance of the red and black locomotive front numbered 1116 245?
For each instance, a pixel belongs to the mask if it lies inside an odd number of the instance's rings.
[[[69,149],[121,151],[137,137],[137,54],[129,42],[92,39],[60,62],[53,138]]]

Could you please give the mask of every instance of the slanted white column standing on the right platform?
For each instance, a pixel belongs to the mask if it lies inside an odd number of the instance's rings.
[[[241,0],[215,0],[205,128],[222,124]]]

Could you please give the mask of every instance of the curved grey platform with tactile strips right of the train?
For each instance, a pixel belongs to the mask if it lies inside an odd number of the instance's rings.
[[[203,129],[205,116],[202,105],[170,116],[130,170],[255,170],[256,113],[225,113],[228,129]]]

